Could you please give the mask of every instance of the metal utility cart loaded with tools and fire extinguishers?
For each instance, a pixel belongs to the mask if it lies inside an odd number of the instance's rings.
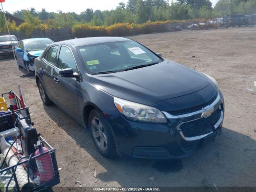
[[[8,102],[10,93],[15,110]],[[49,190],[60,183],[54,148],[33,128],[22,97],[11,91],[2,98],[6,106],[0,111],[0,192]]]

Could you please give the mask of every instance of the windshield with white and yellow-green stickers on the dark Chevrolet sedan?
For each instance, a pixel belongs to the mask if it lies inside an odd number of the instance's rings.
[[[107,42],[78,47],[90,74],[119,72],[162,62],[162,59],[135,41]]]

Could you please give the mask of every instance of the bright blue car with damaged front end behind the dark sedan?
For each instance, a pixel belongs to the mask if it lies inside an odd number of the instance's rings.
[[[52,44],[48,38],[32,38],[20,40],[15,47],[15,56],[19,68],[27,70],[29,75],[34,75],[34,59],[39,57],[44,49]]]

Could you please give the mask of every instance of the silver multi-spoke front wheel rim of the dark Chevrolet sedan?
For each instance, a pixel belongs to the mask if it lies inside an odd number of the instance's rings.
[[[108,139],[102,123],[98,118],[92,118],[91,129],[96,145],[100,148],[100,150],[105,151],[107,149]]]

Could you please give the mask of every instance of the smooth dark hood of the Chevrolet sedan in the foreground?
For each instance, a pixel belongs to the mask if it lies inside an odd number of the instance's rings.
[[[92,75],[91,82],[108,94],[146,105],[191,94],[212,83],[202,73],[169,60],[124,72]]]

